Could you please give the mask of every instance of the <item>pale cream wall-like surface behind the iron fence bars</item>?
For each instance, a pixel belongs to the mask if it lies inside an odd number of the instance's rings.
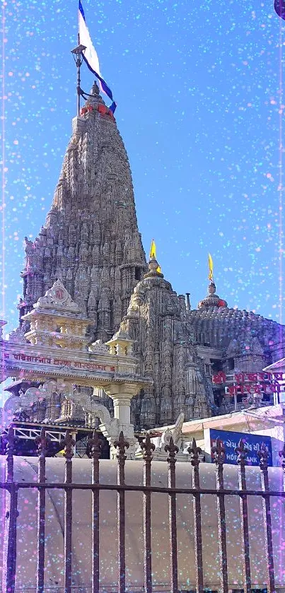
[[[47,459],[47,482],[64,481],[64,459]],[[4,476],[4,457],[0,458]],[[37,480],[37,459],[15,457],[15,479],[19,482]],[[126,462],[125,482],[142,484],[143,463]],[[189,487],[192,467],[176,464],[177,487]],[[168,464],[152,463],[153,486],[168,485]],[[204,488],[216,488],[213,464],[200,464],[200,481]],[[281,491],[282,471],[269,469],[270,488]],[[76,483],[91,482],[91,461],[74,459],[73,479]],[[225,488],[238,488],[237,466],[224,466]],[[100,482],[115,484],[117,462],[100,461]],[[260,470],[247,469],[248,489],[260,489]],[[3,491],[0,491],[0,496]],[[4,511],[4,501],[1,508]],[[151,495],[153,591],[169,591],[169,523],[168,495]],[[194,536],[192,496],[177,496],[178,582],[180,589],[195,589]],[[277,588],[285,586],[285,501],[271,498],[274,570]],[[263,531],[262,500],[248,497],[250,529],[250,568],[252,587],[266,586],[266,562]],[[18,498],[16,591],[34,592],[37,550],[37,491],[20,490]],[[2,512],[4,517],[4,512]],[[228,582],[233,589],[243,588],[243,567],[240,544],[240,507],[236,496],[226,497]],[[1,530],[3,534],[3,529]],[[47,491],[46,507],[46,574],[45,592],[63,592],[64,493]],[[219,589],[219,558],[216,496],[202,496],[202,543],[204,587]],[[1,542],[0,542],[1,545]],[[74,592],[91,591],[91,492],[73,494],[73,575]],[[126,580],[129,592],[143,591],[143,505],[142,494],[126,493]],[[117,493],[100,493],[100,578],[102,592],[117,592]]]

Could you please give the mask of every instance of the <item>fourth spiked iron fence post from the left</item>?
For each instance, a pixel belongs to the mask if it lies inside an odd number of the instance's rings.
[[[99,457],[102,441],[94,430],[93,438],[88,439],[88,448],[92,459],[93,484],[99,483]],[[99,593],[100,571],[99,571],[99,490],[92,491],[92,593]]]

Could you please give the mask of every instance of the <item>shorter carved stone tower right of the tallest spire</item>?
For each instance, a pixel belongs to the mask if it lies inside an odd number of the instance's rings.
[[[192,344],[185,298],[177,295],[152,257],[149,271],[132,293],[121,329],[134,341],[139,372],[153,378],[131,402],[137,427],[153,428],[185,418],[211,416],[214,394]]]

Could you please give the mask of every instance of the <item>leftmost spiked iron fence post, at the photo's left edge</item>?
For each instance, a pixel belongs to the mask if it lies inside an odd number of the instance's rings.
[[[13,475],[13,453],[16,444],[14,437],[13,425],[9,426],[7,442],[6,442],[6,515],[4,527],[4,542],[3,542],[3,591],[6,593],[14,593],[15,591],[15,575],[16,575],[16,524],[18,517],[17,503],[18,503],[18,488],[14,483]]]

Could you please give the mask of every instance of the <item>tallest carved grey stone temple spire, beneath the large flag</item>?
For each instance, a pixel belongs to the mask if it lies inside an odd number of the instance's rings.
[[[94,83],[72,121],[52,208],[34,242],[26,240],[21,315],[60,279],[107,341],[146,271],[132,175],[112,112]]]

